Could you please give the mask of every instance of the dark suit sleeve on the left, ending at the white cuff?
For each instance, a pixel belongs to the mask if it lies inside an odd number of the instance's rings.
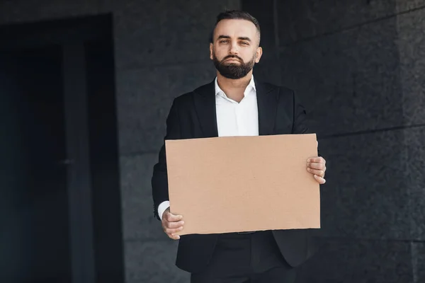
[[[164,201],[169,200],[168,177],[166,171],[165,141],[167,139],[180,139],[179,115],[176,100],[171,105],[169,115],[166,118],[166,135],[164,143],[159,150],[158,162],[154,165],[152,173],[152,197],[154,200],[154,216],[160,220],[158,207]]]

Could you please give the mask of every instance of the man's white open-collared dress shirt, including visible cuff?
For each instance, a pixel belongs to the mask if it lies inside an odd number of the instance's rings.
[[[215,78],[215,106],[219,137],[259,135],[259,111],[254,76],[251,76],[251,81],[244,91],[244,98],[239,103],[227,98]],[[169,206],[168,200],[159,204],[158,214],[161,219]]]

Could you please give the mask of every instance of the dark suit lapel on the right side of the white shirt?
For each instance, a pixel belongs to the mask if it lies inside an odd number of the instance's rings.
[[[268,83],[261,83],[254,78],[257,105],[259,109],[259,134],[274,134],[276,110],[278,105],[278,88]]]

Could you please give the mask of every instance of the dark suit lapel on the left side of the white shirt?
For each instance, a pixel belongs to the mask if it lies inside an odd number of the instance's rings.
[[[214,81],[193,92],[197,94],[193,100],[203,137],[218,137]]]

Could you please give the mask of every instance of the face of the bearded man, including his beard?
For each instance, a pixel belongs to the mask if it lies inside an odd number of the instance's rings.
[[[222,20],[217,24],[210,44],[210,59],[227,79],[241,79],[261,58],[259,33],[246,20]]]

